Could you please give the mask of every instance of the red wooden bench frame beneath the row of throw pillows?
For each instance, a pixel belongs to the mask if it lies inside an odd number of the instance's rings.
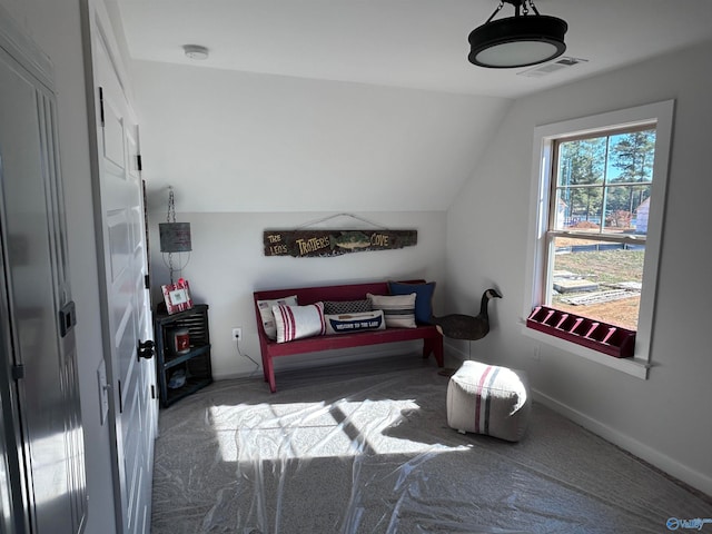
[[[424,280],[409,280],[409,283],[422,281]],[[279,356],[317,353],[338,348],[364,347],[380,343],[423,339],[423,357],[427,358],[432,353],[435,356],[437,365],[443,367],[443,336],[433,325],[418,325],[417,328],[386,328],[385,330],[333,334],[295,339],[288,343],[277,343],[269,339],[265,334],[259,307],[257,305],[258,300],[271,300],[290,295],[297,296],[300,306],[314,304],[319,300],[359,300],[365,299],[368,293],[373,295],[388,295],[388,283],[377,281],[340,286],[301,287],[296,289],[270,289],[254,293],[259,348],[263,355],[263,372],[265,374],[265,382],[269,383],[271,393],[277,390],[273,358]]]

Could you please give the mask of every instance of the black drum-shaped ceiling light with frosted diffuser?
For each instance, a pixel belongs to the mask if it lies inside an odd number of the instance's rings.
[[[514,17],[493,21],[505,2],[514,6]],[[567,29],[564,20],[540,14],[532,0],[501,0],[487,21],[469,33],[467,59],[491,69],[543,63],[564,53]]]

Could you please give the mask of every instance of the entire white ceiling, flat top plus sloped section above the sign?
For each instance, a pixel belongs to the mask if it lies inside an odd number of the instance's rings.
[[[527,78],[467,62],[494,0],[113,3],[149,198],[189,211],[447,209],[512,99],[712,40],[709,0],[540,0],[586,61]]]

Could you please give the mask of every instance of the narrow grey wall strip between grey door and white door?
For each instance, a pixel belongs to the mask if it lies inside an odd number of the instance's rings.
[[[79,2],[0,2],[55,65],[70,279],[78,318],[76,335],[89,494],[86,532],[110,533],[116,526],[109,428],[99,424],[97,368],[103,355]]]

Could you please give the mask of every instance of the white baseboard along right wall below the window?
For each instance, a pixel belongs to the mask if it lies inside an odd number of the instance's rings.
[[[674,458],[656,451],[637,439],[632,438],[615,428],[596,421],[586,414],[583,414],[576,409],[573,409],[565,404],[543,394],[536,389],[532,390],[534,400],[542,403],[544,406],[553,409],[554,412],[562,414],[571,421],[580,424],[584,428],[593,432],[594,434],[603,437],[604,439],[617,445],[619,447],[634,454],[639,458],[654,465],[655,467],[664,471],[665,473],[681,479],[685,484],[700,490],[706,495],[712,495],[712,477],[698,473],[696,471],[681,464]]]

